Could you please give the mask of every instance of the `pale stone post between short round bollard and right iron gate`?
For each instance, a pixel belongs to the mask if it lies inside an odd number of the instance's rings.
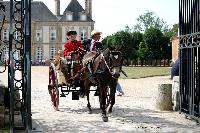
[[[172,83],[172,103],[173,110],[178,111],[180,109],[180,94],[179,94],[179,76],[173,77]]]

